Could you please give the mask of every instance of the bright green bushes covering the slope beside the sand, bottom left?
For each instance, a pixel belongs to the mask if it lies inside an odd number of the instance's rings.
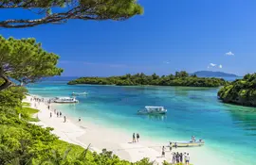
[[[51,134],[52,128],[29,124],[38,110],[22,107],[24,88],[0,92],[0,165],[152,165],[148,158],[136,163],[120,160],[112,152],[101,154],[69,144]],[[5,101],[3,101],[3,100]],[[9,101],[10,103],[6,103]],[[22,114],[22,119],[18,114]]]

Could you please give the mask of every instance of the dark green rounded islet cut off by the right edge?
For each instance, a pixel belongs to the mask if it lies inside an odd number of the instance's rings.
[[[227,84],[218,91],[218,96],[225,103],[256,107],[256,73]]]

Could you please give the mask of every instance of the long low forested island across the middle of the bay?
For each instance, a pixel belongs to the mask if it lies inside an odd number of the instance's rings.
[[[68,82],[68,85],[75,84],[97,84],[97,85],[118,85],[118,86],[188,86],[188,87],[219,87],[229,84],[222,78],[206,78],[189,75],[188,73],[176,72],[170,75],[146,75],[146,74],[125,74],[122,76],[110,77],[81,77]]]

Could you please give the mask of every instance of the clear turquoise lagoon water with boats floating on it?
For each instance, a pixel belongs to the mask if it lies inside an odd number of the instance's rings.
[[[154,140],[204,139],[227,165],[256,164],[256,108],[224,104],[218,88],[68,86],[70,78],[54,78],[27,86],[29,93],[43,97],[78,96],[77,105],[62,105],[64,113],[82,120],[121,128]],[[230,77],[229,77],[230,79]],[[137,115],[145,106],[163,106],[162,116]]]

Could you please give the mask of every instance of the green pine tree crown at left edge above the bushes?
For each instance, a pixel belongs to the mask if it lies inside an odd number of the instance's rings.
[[[13,85],[11,79],[23,85],[62,74],[63,69],[56,67],[58,59],[57,55],[46,52],[35,39],[15,40],[0,36],[0,78],[4,80],[0,91]]]

